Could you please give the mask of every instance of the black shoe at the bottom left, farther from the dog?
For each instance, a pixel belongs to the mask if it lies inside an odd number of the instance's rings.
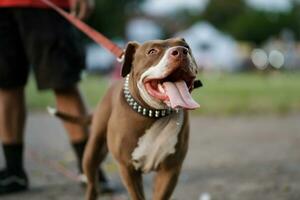
[[[0,171],[0,196],[27,190],[28,185],[28,178],[24,171]]]

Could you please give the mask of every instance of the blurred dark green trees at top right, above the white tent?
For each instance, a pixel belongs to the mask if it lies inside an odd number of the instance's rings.
[[[200,19],[238,40],[257,44],[284,29],[291,30],[300,39],[300,3],[296,1],[290,12],[268,12],[250,8],[244,0],[210,0],[207,9],[198,16]]]

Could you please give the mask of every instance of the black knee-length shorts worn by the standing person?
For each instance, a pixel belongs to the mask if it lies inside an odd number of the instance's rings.
[[[30,69],[39,89],[70,88],[84,67],[77,30],[57,13],[0,8],[0,88],[24,86]]]

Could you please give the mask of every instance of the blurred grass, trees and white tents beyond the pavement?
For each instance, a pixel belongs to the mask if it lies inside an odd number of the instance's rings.
[[[211,115],[300,111],[300,1],[114,0],[96,1],[88,23],[121,47],[135,40],[184,37],[201,68],[197,113]],[[114,72],[113,55],[86,43],[83,91],[95,106]],[[94,75],[104,76],[95,78]],[[88,75],[89,78],[85,78]],[[103,81],[104,80],[104,81]],[[100,81],[95,84],[94,81]],[[101,84],[103,87],[99,87]],[[35,90],[33,84],[29,90]],[[100,91],[99,91],[100,90]],[[34,92],[33,92],[34,93]],[[36,109],[50,94],[29,95]]]

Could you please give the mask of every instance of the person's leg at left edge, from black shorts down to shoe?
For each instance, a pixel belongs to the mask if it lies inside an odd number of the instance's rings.
[[[28,187],[23,166],[23,134],[24,86],[29,65],[14,10],[0,8],[0,12],[0,141],[5,160],[5,168],[0,170],[2,195]]]

